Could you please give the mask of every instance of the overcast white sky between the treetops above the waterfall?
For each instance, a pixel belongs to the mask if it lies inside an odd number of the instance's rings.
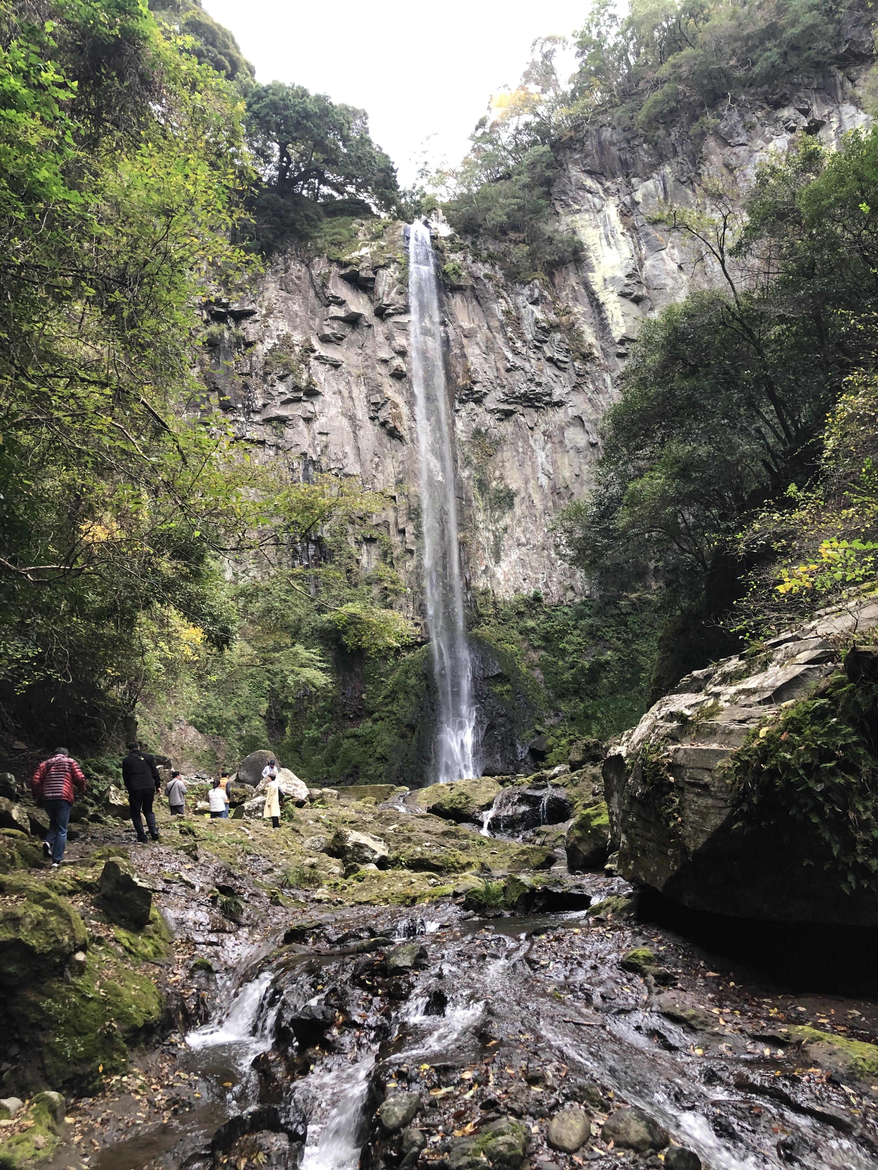
[[[433,164],[458,161],[491,94],[519,81],[530,42],[570,35],[589,8],[589,0],[203,2],[234,33],[258,81],[296,82],[366,110],[404,186],[428,136]]]

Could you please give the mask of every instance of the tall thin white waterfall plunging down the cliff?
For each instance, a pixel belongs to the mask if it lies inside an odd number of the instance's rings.
[[[409,235],[409,302],[414,415],[420,457],[424,593],[439,691],[435,780],[475,776],[472,662],[464,626],[454,456],[445,385],[439,282],[430,230]]]

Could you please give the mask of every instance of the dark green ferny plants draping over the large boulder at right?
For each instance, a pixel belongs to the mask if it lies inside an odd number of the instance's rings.
[[[844,889],[878,889],[878,690],[835,675],[754,729],[728,760],[743,825],[822,842]],[[797,835],[800,834],[800,835]]]

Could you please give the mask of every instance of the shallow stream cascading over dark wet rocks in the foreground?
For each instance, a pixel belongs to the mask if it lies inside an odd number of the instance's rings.
[[[587,881],[595,901],[625,889],[604,875]],[[373,938],[389,942],[373,950]],[[424,948],[423,958],[383,975],[382,955],[406,940]],[[453,903],[423,916],[344,908],[307,943],[261,944],[254,962],[245,958],[220,980],[214,1017],[178,1048],[180,1066],[198,1078],[198,1108],[151,1141],[142,1134],[105,1149],[92,1168],[208,1170],[222,1119],[274,1104],[307,1120],[289,1164],[357,1170],[377,1104],[398,1089],[424,1102],[417,1164],[440,1170],[455,1165],[455,1134],[478,1133],[498,1115],[528,1126],[524,1164],[617,1164],[622,1151],[588,1144],[572,1162],[549,1150],[544,1135],[564,1104],[585,1103],[599,1126],[619,1100],[643,1108],[713,1170],[878,1165],[873,1122],[849,1087],[803,1069],[776,1039],[755,1040],[759,1028],[693,1030],[663,1013],[667,991],[619,969],[620,952],[644,941],[665,949],[674,982],[700,985],[695,998],[723,1025],[739,1012],[752,1017],[753,1005],[759,1013],[760,1000],[784,1002],[777,987],[757,986],[743,969],[732,979],[728,961],[649,923],[596,922],[582,911],[483,918]],[[794,1018],[797,1004],[793,997]],[[661,1164],[654,1155],[626,1158]]]

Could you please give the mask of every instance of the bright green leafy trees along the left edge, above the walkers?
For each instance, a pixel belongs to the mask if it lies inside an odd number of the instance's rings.
[[[130,713],[150,624],[229,635],[212,550],[243,469],[185,406],[246,168],[234,97],[136,0],[29,13],[0,20],[0,690],[88,743]]]

